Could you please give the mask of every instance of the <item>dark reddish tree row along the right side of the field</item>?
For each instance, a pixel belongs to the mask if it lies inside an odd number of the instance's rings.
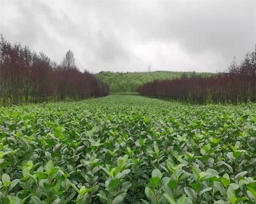
[[[206,77],[181,77],[153,81],[140,86],[140,95],[179,100],[188,103],[246,103],[256,101],[256,45],[241,64],[235,60],[228,71]]]

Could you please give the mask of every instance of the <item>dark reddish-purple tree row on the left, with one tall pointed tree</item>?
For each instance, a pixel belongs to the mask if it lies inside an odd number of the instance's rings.
[[[61,63],[20,43],[0,39],[0,104],[80,100],[109,94],[108,84],[81,72],[69,50]]]

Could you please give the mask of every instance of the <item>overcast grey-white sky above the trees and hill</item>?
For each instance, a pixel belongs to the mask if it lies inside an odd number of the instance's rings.
[[[256,0],[0,0],[0,33],[81,71],[227,69],[256,44]]]

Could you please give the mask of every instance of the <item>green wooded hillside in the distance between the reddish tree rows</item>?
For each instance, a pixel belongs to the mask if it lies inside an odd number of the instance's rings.
[[[101,71],[96,73],[96,78],[106,82],[110,86],[111,92],[134,92],[145,83],[154,80],[174,79],[182,75],[209,75],[212,73],[199,72],[178,72],[178,71],[151,71],[151,72],[110,72]]]

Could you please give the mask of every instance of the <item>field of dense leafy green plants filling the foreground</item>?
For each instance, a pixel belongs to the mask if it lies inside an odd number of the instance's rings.
[[[125,95],[0,107],[0,203],[255,203],[255,111]]]

